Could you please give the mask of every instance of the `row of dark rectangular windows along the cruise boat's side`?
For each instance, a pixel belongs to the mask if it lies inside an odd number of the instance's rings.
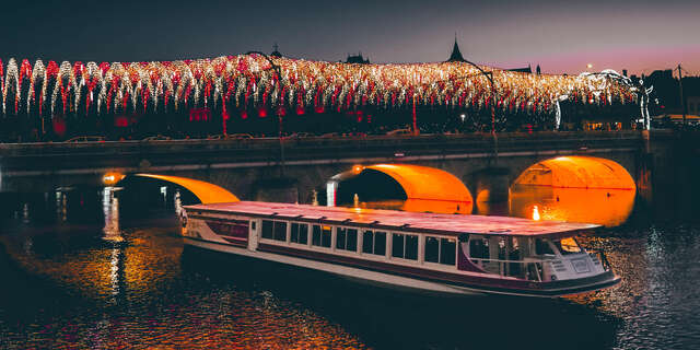
[[[262,220],[262,238],[279,242],[287,241],[285,221]],[[296,244],[308,244],[308,224],[290,223],[289,242]],[[336,226],[336,246],[338,250],[358,252],[358,229]],[[334,230],[329,225],[311,225],[311,245],[330,248]],[[383,231],[362,231],[361,253],[386,256],[387,236],[392,240],[392,257],[407,260],[418,260],[418,235],[390,233]],[[434,236],[424,237],[424,260],[443,265],[455,265],[456,243],[453,238],[442,238]]]

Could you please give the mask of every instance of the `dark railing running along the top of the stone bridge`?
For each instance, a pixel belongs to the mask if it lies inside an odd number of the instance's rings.
[[[641,148],[639,131],[570,131],[499,133],[499,152],[586,152],[591,149]],[[490,156],[493,139],[490,133],[423,135],[418,137],[340,137],[283,140],[285,159],[400,159],[422,155],[481,154]],[[242,140],[170,140],[107,141],[82,143],[0,144],[1,168],[101,168],[143,167],[143,165],[222,164],[280,160],[279,139]],[[144,161],[147,163],[144,163]],[[400,160],[399,160],[400,161]],[[208,165],[207,165],[208,166]]]

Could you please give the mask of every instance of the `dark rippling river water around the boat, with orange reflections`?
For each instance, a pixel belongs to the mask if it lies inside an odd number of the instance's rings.
[[[692,203],[520,188],[475,205],[606,225],[583,241],[620,285],[549,300],[410,294],[188,248],[175,212],[191,200],[172,187],[0,196],[0,348],[700,349]]]

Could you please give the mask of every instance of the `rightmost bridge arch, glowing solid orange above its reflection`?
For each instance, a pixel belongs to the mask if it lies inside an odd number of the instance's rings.
[[[599,188],[634,190],[634,179],[617,162],[594,156],[559,156],[525,170],[516,185],[557,188]]]

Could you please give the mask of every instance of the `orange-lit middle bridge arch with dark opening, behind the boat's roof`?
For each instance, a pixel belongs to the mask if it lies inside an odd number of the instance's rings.
[[[331,177],[326,194],[329,205],[351,203],[357,194],[362,201],[381,201],[380,208],[406,211],[470,213],[474,205],[453,174],[411,164],[355,165]]]

